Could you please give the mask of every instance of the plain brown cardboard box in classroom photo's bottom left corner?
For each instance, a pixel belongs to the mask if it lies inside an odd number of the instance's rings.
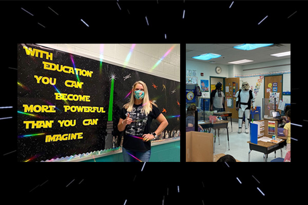
[[[213,133],[186,132],[186,162],[212,162]]]

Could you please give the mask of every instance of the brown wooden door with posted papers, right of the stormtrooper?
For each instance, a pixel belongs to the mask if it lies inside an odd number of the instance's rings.
[[[282,75],[272,75],[264,77],[264,98],[270,100],[269,95],[271,94],[271,92],[279,93],[279,99],[278,100],[276,99],[276,109],[277,109],[279,100],[282,97]],[[267,102],[265,101],[265,103]],[[269,109],[265,109],[264,111],[266,110],[274,110],[274,108],[270,106]],[[267,115],[267,113],[264,112],[264,115]]]

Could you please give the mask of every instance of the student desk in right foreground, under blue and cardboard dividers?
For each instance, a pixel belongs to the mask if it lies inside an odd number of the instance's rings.
[[[260,137],[258,137],[260,138]],[[283,142],[284,140],[280,141],[278,144],[272,143],[272,142],[264,142],[264,141],[258,141],[258,144],[254,144],[251,141],[247,141],[249,144],[249,152],[248,152],[248,162],[250,161],[250,153],[252,150],[262,152],[263,155],[263,161],[267,161],[267,157],[269,153],[275,152],[275,158],[276,158],[276,150],[281,151],[281,157],[282,157],[282,148],[283,148]]]

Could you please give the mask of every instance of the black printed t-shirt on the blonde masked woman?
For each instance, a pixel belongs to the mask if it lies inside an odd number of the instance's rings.
[[[141,112],[141,110],[142,104],[133,105],[131,112],[129,112],[129,117],[132,118],[132,122],[130,125],[126,125],[124,130],[123,147],[134,152],[146,152],[151,149],[150,140],[145,142],[137,137],[142,137],[143,134],[150,134],[152,119],[156,119],[161,113],[154,105],[152,105],[152,111],[148,115]],[[120,117],[126,119],[126,113],[127,110],[123,108]]]

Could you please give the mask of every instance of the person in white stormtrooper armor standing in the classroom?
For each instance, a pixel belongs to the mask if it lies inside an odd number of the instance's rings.
[[[243,114],[245,113],[245,133],[248,134],[248,119],[250,117],[251,105],[255,109],[256,95],[252,90],[249,90],[249,84],[246,81],[242,83],[242,89],[236,94],[236,110],[239,111],[239,131],[242,132]]]

